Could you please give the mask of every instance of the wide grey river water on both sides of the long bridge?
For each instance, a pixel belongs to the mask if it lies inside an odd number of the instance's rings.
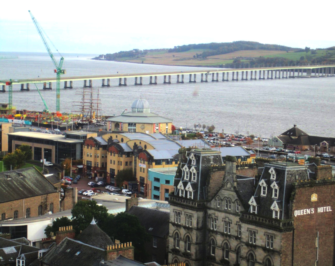
[[[53,77],[54,66],[47,53],[0,52],[0,56],[17,55],[18,59],[1,59],[0,80]],[[191,67],[173,67],[113,61],[90,60],[96,54],[63,54],[66,76],[148,73],[164,71],[186,71]],[[56,61],[59,57],[56,56]],[[229,75],[231,79],[231,74]],[[249,73],[250,77],[250,73]],[[241,74],[240,77],[241,78]],[[248,80],[228,82],[163,84],[158,77],[157,85],[149,85],[149,78],[143,78],[143,85],[134,85],[134,78],[128,78],[128,86],[118,86],[118,79],[111,80],[111,87],[100,87],[101,80],[93,80],[93,87],[99,88],[103,115],[119,115],[124,109],[130,111],[132,102],[145,98],[150,111],[174,120],[176,126],[190,128],[194,123],[214,124],[216,131],[225,133],[255,134],[270,137],[291,128],[293,124],[310,135],[333,137],[335,135],[335,77],[295,78],[273,80]],[[222,76],[219,76],[219,80]],[[37,85],[42,89],[42,84]],[[53,90],[41,90],[49,109],[56,109],[56,83]],[[63,89],[61,83],[61,112],[74,110],[73,101],[79,100],[76,92],[82,90],[83,81],[73,82],[73,89]],[[7,88],[6,88],[7,90]],[[0,102],[8,101],[8,93],[0,93]],[[19,109],[42,110],[43,102],[35,85],[30,91],[20,91],[20,85],[13,86],[13,105]]]

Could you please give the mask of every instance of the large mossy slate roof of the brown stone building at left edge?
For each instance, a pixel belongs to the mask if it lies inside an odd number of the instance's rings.
[[[54,193],[57,188],[35,167],[29,167],[0,173],[0,191],[3,203]]]

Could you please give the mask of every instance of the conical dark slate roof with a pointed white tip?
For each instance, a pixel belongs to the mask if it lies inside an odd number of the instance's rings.
[[[76,237],[76,240],[102,249],[113,245],[111,238],[96,225],[94,218],[90,225]]]

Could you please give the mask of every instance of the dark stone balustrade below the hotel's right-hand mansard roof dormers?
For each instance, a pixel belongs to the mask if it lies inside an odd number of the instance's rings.
[[[255,223],[262,226],[268,226],[279,230],[293,229],[293,219],[279,220],[270,217],[265,217],[257,214],[242,211],[241,218],[244,222]]]

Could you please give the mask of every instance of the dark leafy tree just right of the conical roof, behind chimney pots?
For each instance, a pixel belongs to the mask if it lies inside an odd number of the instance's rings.
[[[150,240],[150,236],[138,218],[128,213],[118,213],[115,217],[108,217],[106,221],[108,225],[105,232],[121,243],[132,241],[135,247],[135,260],[144,261],[147,257],[144,244]]]

